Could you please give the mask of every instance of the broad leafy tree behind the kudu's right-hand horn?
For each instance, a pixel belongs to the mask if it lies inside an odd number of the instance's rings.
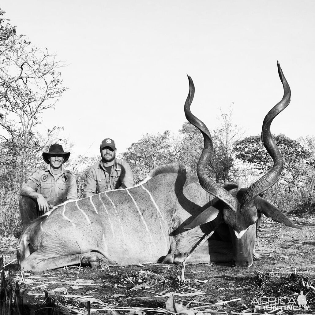
[[[284,211],[297,208],[310,209],[314,205],[315,174],[312,139],[299,141],[285,135],[273,135],[283,156],[283,172],[278,182],[265,192],[265,198]],[[302,146],[300,142],[304,140]],[[250,136],[235,147],[236,158],[251,165],[257,177],[266,174],[273,161],[264,148],[260,136]],[[253,178],[253,181],[257,178]]]

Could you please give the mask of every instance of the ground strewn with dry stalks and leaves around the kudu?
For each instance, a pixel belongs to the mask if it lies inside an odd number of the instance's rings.
[[[264,258],[250,268],[189,261],[184,267],[148,264],[94,270],[74,266],[24,275],[5,272],[6,283],[14,288],[18,283],[24,292],[20,301],[25,312],[49,301],[58,314],[88,314],[89,310],[139,315],[315,313],[315,219],[291,219],[300,230],[264,218],[256,239],[256,249]],[[15,239],[2,238],[0,252],[6,263],[14,259],[15,251]],[[300,291],[306,296],[306,308],[297,305]],[[173,304],[171,293],[186,310]]]

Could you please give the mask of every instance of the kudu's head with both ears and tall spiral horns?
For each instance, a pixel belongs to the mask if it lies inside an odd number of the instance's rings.
[[[260,218],[261,213],[271,217],[277,222],[298,228],[279,209],[259,196],[262,192],[266,191],[277,182],[283,169],[283,158],[271,136],[270,125],[272,120],[289,105],[291,91],[279,63],[278,73],[283,84],[284,95],[282,100],[266,115],[261,132],[263,144],[273,159],[273,167],[267,174],[263,175],[249,188],[232,189],[230,191],[220,186],[206,174],[206,166],[209,163],[210,156],[213,152],[213,142],[206,125],[190,112],[190,105],[194,98],[195,87],[191,78],[188,76],[189,94],[184,107],[185,115],[187,120],[201,131],[204,138],[203,151],[197,165],[197,175],[202,188],[218,198],[219,201],[223,202],[224,209],[222,213],[215,207],[210,206],[185,228],[193,228],[210,222],[218,215],[221,215],[230,229],[234,249],[234,264],[236,266],[249,267],[253,264],[256,223]]]

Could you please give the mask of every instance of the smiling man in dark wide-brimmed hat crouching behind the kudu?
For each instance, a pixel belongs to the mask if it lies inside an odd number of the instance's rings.
[[[69,156],[70,152],[64,152],[60,144],[43,152],[47,167],[35,172],[20,191],[23,228],[58,204],[78,199],[75,177],[63,166]]]

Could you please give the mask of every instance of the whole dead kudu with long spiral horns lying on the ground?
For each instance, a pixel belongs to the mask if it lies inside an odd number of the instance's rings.
[[[261,213],[296,227],[281,211],[259,197],[279,178],[283,160],[270,124],[290,100],[282,70],[283,99],[267,114],[262,139],[274,166],[248,189],[219,186],[205,173],[212,151],[207,127],[190,112],[194,85],[185,103],[187,119],[201,130],[204,149],[197,173],[200,184],[178,165],[155,169],[142,184],[66,202],[33,221],[20,237],[20,266],[42,271],[102,258],[107,264],[164,262],[185,257],[205,234],[215,233],[190,257],[190,262],[253,263],[256,225]],[[201,185],[201,186],[200,186]],[[186,228],[186,229],[185,229]],[[188,229],[187,229],[188,228]],[[175,254],[175,255],[173,255]]]

